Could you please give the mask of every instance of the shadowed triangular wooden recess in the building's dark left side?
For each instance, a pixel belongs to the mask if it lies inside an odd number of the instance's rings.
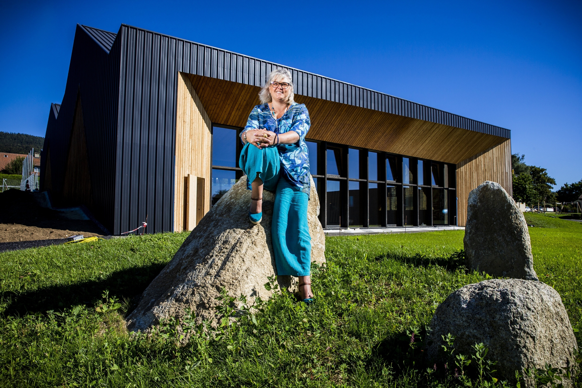
[[[69,154],[65,170],[62,197],[56,201],[59,205],[84,204],[93,208],[91,200],[91,174],[87,157],[87,140],[83,125],[83,108],[81,98],[77,96],[73,129],[69,142]]]

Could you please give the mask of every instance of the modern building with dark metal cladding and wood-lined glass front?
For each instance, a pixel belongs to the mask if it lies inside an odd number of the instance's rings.
[[[41,190],[84,204],[113,234],[192,229],[242,176],[237,135],[275,68],[122,24],[77,25],[62,104],[52,104]],[[489,179],[512,191],[510,131],[288,68],[310,112],[324,227],[464,225]]]

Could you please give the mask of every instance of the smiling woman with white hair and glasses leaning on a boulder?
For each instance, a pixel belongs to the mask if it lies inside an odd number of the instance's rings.
[[[313,302],[311,236],[307,225],[310,171],[305,136],[309,112],[293,100],[289,70],[276,69],[262,87],[261,105],[254,107],[240,138],[239,166],[251,190],[249,219],[262,218],[262,189],[275,192],[271,235],[278,275],[299,277],[301,300]]]

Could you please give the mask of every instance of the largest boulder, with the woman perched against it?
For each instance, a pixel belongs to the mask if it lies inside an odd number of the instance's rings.
[[[268,299],[268,277],[275,276],[271,245],[271,219],[275,195],[264,191],[262,221],[249,221],[250,191],[246,176],[232,186],[183,242],[172,261],[143,292],[136,309],[127,318],[130,330],[147,330],[159,320],[182,316],[184,309],[196,312],[197,321],[215,322],[217,297],[224,287],[232,297],[246,295]],[[325,262],[325,235],[317,218],[320,203],[313,179],[307,218],[311,234],[311,261]],[[278,283],[296,290],[297,278],[280,276]]]

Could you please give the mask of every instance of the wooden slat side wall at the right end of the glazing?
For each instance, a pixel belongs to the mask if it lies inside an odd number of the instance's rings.
[[[511,140],[508,139],[457,164],[459,225],[465,225],[467,221],[469,193],[485,181],[497,182],[509,195],[513,195]]]

